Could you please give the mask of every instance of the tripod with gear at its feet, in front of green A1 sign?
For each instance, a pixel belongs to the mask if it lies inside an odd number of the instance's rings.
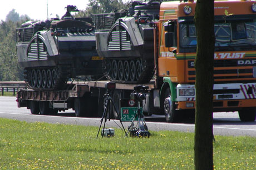
[[[138,101],[137,113],[135,114],[134,119],[132,119],[131,124],[128,127],[128,132],[130,133],[130,136],[137,136],[137,137],[149,137],[150,136],[150,133],[146,126],[144,115],[142,114],[141,111],[142,110],[140,107],[140,101]],[[136,126],[134,126],[134,121],[136,118],[138,118],[138,122],[137,122]]]

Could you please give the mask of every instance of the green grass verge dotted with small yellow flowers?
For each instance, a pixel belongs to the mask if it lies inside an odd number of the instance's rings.
[[[194,169],[194,134],[98,138],[99,127],[0,118],[1,169]],[[214,169],[256,169],[256,138],[215,136]]]

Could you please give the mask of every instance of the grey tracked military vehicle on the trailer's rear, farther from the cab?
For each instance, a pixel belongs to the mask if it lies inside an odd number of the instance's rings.
[[[67,6],[61,18],[27,22],[17,28],[18,64],[32,89],[62,89],[69,78],[100,77],[95,29],[91,18],[73,18],[76,6]]]

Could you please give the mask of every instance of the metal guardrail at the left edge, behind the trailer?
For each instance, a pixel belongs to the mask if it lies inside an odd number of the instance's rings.
[[[11,88],[13,91],[13,96],[16,94],[16,89],[17,91],[19,88],[24,88],[26,87],[26,83],[24,81],[17,81],[17,82],[1,82],[0,81],[0,89],[2,90],[2,96],[4,95],[4,91],[8,92],[9,89]]]

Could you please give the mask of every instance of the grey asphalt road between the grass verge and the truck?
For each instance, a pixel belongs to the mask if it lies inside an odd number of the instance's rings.
[[[222,136],[251,136],[256,137],[256,121],[241,122],[237,112],[214,113],[214,135]],[[0,97],[0,117],[18,119],[27,122],[47,122],[60,124],[77,124],[83,126],[100,126],[100,118],[77,118],[72,109],[60,112],[57,116],[32,115],[27,108],[18,108],[16,97]],[[181,131],[194,132],[194,123],[186,121],[183,123],[166,123],[163,116],[153,115],[146,117],[146,124],[149,131]],[[130,122],[123,122],[127,128]],[[120,126],[119,121],[107,121],[107,127]]]

